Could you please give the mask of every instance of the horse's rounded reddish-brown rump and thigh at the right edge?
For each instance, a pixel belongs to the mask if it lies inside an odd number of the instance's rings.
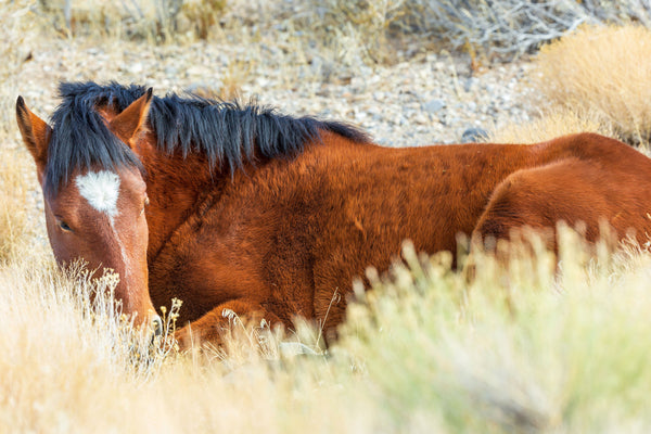
[[[583,226],[589,241],[604,225],[618,238],[651,233],[651,159],[617,140],[580,133],[534,145],[551,163],[509,175],[492,193],[473,238],[508,240],[513,230]],[[548,239],[556,246],[556,239]]]

